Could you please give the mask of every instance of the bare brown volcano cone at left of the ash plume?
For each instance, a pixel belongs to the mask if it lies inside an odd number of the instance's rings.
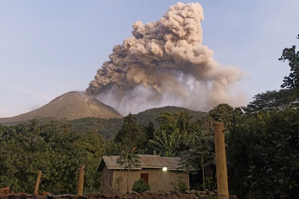
[[[82,92],[67,92],[39,109],[10,118],[0,118],[0,123],[38,120],[74,120],[79,118],[122,118],[112,107]]]

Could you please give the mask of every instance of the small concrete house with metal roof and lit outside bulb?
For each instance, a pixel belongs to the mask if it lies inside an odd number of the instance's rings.
[[[133,168],[129,172],[129,191],[132,191],[133,183],[143,178],[149,184],[152,192],[159,190],[170,191],[173,189],[171,182],[176,182],[178,176],[181,181],[189,187],[189,175],[184,170],[177,170],[180,158],[160,157],[159,155],[138,155],[140,157],[140,167]],[[97,168],[97,172],[102,172],[102,189],[109,191],[119,176],[123,177],[120,193],[127,191],[128,170],[116,163],[119,156],[103,156]]]

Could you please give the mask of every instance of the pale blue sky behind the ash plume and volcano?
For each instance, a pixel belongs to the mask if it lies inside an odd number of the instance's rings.
[[[279,90],[289,66],[278,58],[285,47],[299,45],[299,1],[198,2],[203,45],[217,62],[245,73],[235,88],[248,102]],[[176,3],[0,0],[0,118],[84,91],[114,45],[131,36],[135,21],[156,21]]]

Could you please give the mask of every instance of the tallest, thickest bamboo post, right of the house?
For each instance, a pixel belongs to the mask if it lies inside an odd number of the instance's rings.
[[[225,157],[225,142],[222,122],[213,121],[216,152],[218,199],[228,199],[228,181]]]

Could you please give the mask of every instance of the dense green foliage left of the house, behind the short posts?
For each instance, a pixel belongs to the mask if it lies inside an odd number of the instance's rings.
[[[98,187],[93,177],[103,154],[103,140],[96,133],[78,134],[68,124],[45,125],[31,121],[0,125],[0,187],[33,192],[37,172],[42,170],[40,191],[74,193],[79,164],[85,163],[85,191]]]

